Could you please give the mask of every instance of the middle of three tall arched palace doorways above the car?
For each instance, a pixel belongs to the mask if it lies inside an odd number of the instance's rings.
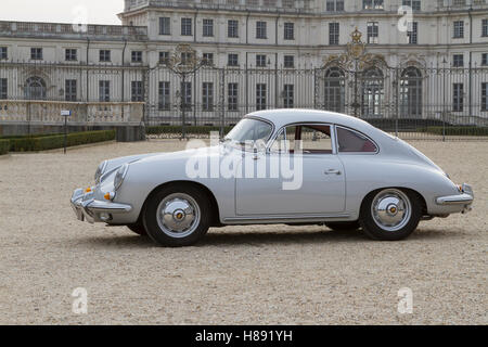
[[[373,67],[361,77],[361,114],[363,117],[381,117],[385,97],[383,72]]]

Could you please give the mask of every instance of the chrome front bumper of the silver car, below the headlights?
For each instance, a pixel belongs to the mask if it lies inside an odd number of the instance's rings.
[[[86,193],[82,189],[77,189],[73,193],[72,207],[78,220],[86,220],[89,223],[110,222],[114,215],[128,214],[132,210],[130,205],[95,200],[93,192]]]

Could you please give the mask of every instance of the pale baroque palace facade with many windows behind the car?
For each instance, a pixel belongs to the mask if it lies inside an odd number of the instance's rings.
[[[0,22],[0,101],[95,103],[105,118],[144,101],[156,123],[267,107],[488,118],[486,0],[125,0],[118,16]],[[166,66],[181,43],[206,63],[184,80]]]

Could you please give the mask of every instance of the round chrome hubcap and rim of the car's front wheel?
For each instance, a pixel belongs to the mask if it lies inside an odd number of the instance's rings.
[[[198,227],[201,211],[196,201],[188,194],[167,196],[157,208],[157,223],[171,237],[187,237]]]

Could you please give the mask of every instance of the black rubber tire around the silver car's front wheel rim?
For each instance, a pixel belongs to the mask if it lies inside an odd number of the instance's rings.
[[[200,208],[200,221],[194,221],[191,229],[194,229],[190,234],[185,236],[171,236],[168,230],[164,230],[160,227],[162,221],[158,222],[157,211],[159,205],[166,197],[170,197],[174,194],[184,194],[191,197]],[[206,194],[198,188],[192,185],[174,185],[166,187],[157,192],[153,193],[145,205],[143,211],[143,223],[147,235],[160,246],[166,247],[185,247],[197,243],[207,233],[210,226],[210,203]],[[179,216],[178,216],[179,217]],[[184,218],[187,218],[185,216]],[[175,218],[175,217],[174,217]],[[174,233],[177,233],[176,231]]]

